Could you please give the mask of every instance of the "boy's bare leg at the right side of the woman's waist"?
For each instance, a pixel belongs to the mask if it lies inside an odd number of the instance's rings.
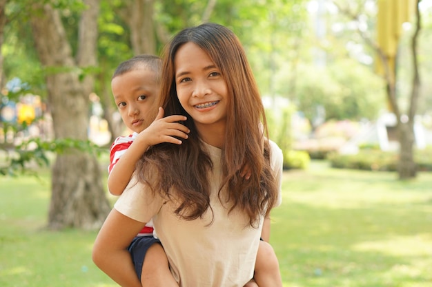
[[[279,262],[273,247],[268,242],[259,241],[253,277],[259,287],[282,287]]]

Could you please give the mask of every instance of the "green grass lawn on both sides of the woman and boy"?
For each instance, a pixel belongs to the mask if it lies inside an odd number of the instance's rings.
[[[396,178],[325,162],[284,173],[271,234],[284,286],[432,286],[432,173]],[[49,201],[48,173],[0,177],[0,286],[117,286],[90,258],[96,232],[43,228]]]

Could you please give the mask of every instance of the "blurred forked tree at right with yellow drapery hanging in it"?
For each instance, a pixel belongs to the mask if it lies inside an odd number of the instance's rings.
[[[420,74],[418,68],[418,36],[421,29],[421,14],[419,3],[421,0],[378,0],[377,1],[377,26],[374,41],[369,36],[364,21],[361,20],[361,12],[353,12],[349,6],[341,6],[338,1],[333,1],[341,12],[357,23],[357,31],[364,41],[368,43],[377,54],[377,72],[386,81],[386,98],[389,103],[389,110],[395,114],[397,119],[398,140],[400,143],[400,158],[398,173],[400,179],[415,178],[417,167],[413,159],[414,145],[414,120],[418,108],[420,89]],[[361,7],[361,6],[358,6]],[[358,11],[358,10],[357,10]],[[397,56],[402,34],[402,24],[414,22],[414,29],[411,34],[411,61],[413,73],[411,75],[411,93],[406,113],[401,111],[400,103],[397,100]],[[363,27],[362,27],[363,25]]]

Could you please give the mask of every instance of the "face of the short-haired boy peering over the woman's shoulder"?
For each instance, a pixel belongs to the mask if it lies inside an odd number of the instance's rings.
[[[155,72],[139,68],[116,76],[111,81],[112,95],[121,119],[128,129],[137,133],[150,125],[159,96],[159,83]]]

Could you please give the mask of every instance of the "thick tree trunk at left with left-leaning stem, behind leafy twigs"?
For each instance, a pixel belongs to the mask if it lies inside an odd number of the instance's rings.
[[[30,21],[39,59],[46,67],[55,138],[87,140],[88,91],[75,72],[77,65],[59,12],[48,4],[35,4],[33,10],[41,11],[32,13]],[[109,211],[97,158],[76,150],[57,155],[52,167],[48,227],[97,228]]]

